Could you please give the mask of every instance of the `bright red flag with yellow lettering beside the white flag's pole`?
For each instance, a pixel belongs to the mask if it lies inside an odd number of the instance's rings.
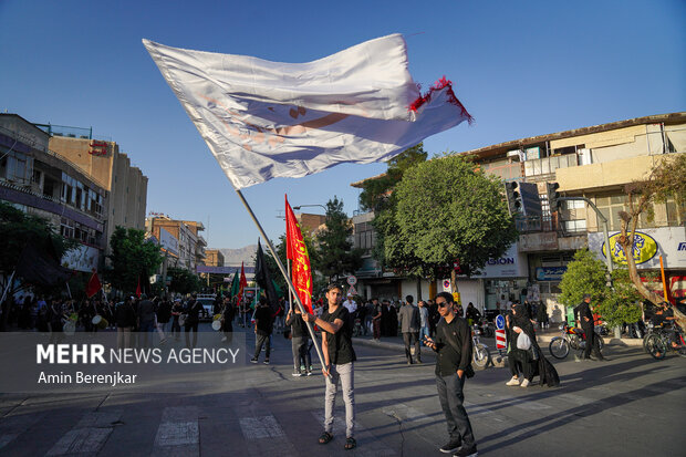
[[[291,279],[305,311],[312,314],[312,269],[305,240],[285,197],[285,255],[293,261]]]

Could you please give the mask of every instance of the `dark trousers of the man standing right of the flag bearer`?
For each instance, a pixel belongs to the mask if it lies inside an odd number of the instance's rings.
[[[471,423],[465,409],[465,376],[460,380],[457,373],[450,376],[436,375],[436,387],[438,388],[438,399],[440,407],[446,415],[448,424],[448,435],[450,440],[458,440],[467,447],[476,445]]]

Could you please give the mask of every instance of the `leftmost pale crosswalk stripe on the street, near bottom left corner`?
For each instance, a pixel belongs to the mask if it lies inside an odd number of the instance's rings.
[[[103,447],[113,429],[113,423],[118,420],[122,412],[91,412],[69,430],[48,451],[48,456],[65,454],[95,455]]]

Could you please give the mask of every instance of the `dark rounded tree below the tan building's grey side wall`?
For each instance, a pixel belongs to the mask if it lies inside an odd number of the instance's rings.
[[[112,267],[105,279],[124,292],[136,290],[141,277],[149,277],[162,264],[159,247],[145,240],[145,231],[116,227],[110,239]]]

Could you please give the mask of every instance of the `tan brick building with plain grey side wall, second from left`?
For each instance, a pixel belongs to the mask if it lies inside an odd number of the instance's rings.
[[[73,134],[73,127],[43,127],[52,133],[52,150],[85,170],[92,180],[108,191],[104,208],[108,221],[107,245],[117,226],[144,230],[148,179],[132,165],[126,154],[119,152],[119,146],[114,142]]]

